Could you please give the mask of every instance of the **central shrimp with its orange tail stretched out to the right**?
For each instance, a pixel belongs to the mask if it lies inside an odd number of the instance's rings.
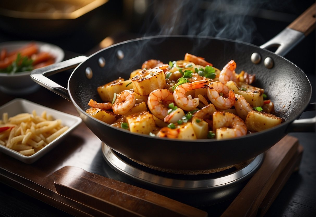
[[[186,96],[186,93],[190,90],[196,90],[199,88],[206,88],[207,81],[194,81],[191,83],[180,84],[173,92],[174,102],[185,111],[191,111],[199,104],[199,98],[192,99],[192,96]]]

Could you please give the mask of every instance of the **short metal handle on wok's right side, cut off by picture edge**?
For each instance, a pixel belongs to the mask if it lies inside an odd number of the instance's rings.
[[[310,103],[305,111],[315,111],[316,103]],[[305,119],[298,119],[293,121],[287,131],[288,133],[291,132],[315,132],[316,130],[316,116],[313,118],[305,118]]]

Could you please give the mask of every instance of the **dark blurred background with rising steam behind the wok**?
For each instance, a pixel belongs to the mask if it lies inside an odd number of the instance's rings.
[[[77,19],[54,22],[16,19],[0,13],[0,42],[39,40],[58,45],[65,51],[86,55],[99,50],[99,43],[106,37],[117,43],[157,34],[218,36],[260,46],[314,2],[109,0]],[[310,74],[311,83],[315,84],[315,31],[285,58]]]

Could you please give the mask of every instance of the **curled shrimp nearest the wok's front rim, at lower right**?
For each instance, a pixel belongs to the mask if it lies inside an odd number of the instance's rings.
[[[245,122],[229,112],[213,113],[213,130],[216,132],[216,139],[229,139],[247,134]]]

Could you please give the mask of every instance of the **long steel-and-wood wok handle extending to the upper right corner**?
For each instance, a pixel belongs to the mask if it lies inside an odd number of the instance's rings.
[[[271,47],[278,47],[275,51],[276,54],[281,56],[287,54],[315,29],[315,11],[316,3],[297,17],[282,32],[261,45],[260,48],[268,49]]]

